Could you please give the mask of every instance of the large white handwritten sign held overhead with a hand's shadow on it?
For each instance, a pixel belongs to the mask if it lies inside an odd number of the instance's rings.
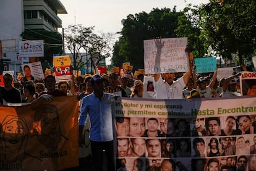
[[[156,48],[157,41],[162,44],[162,48]],[[145,74],[186,72],[186,46],[187,38],[144,40]]]

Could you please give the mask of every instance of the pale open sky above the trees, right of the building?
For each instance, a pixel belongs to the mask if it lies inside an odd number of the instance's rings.
[[[186,4],[199,5],[208,0],[60,0],[67,14],[59,14],[62,27],[82,24],[84,27],[95,26],[95,31],[116,33],[122,29],[122,19],[129,14],[142,11],[149,13],[153,8],[168,7],[182,10]]]

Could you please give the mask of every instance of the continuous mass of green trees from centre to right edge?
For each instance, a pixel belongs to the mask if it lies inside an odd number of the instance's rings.
[[[187,37],[194,57],[212,56],[226,60],[239,56],[242,64],[256,52],[256,1],[210,0],[208,4],[181,12],[169,8],[128,15],[122,20],[121,37],[114,46],[112,62],[130,62],[143,68],[143,40],[156,37]]]

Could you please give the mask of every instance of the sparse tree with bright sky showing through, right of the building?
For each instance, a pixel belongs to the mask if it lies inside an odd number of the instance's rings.
[[[89,60],[97,65],[100,60],[111,55],[113,34],[96,35],[93,30],[94,27],[70,27],[70,30],[65,31],[66,47],[72,54],[74,70],[79,70]]]

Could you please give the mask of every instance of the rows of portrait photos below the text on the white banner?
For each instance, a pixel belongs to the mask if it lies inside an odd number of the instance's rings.
[[[145,117],[127,112],[114,119],[117,170],[252,170],[256,165],[256,112],[168,118],[154,111]]]

